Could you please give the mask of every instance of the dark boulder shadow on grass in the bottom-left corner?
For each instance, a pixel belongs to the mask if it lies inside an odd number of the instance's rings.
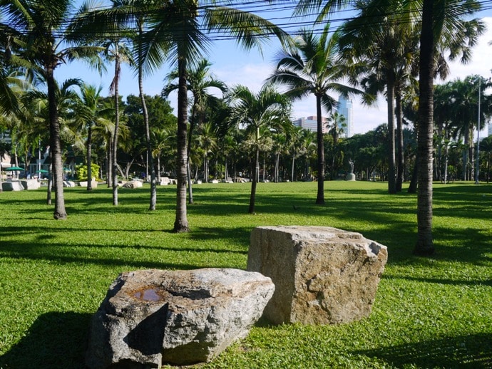
[[[91,314],[51,312],[39,316],[26,336],[0,356],[0,368],[85,368]]]

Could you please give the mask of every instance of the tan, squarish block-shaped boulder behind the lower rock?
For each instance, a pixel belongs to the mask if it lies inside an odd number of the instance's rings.
[[[247,270],[270,276],[273,323],[337,324],[371,313],[386,246],[331,227],[257,227]]]

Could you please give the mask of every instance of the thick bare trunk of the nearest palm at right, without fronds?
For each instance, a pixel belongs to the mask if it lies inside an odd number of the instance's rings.
[[[419,115],[417,160],[417,243],[414,254],[434,254],[432,241],[432,136],[434,120],[434,15],[433,0],[424,0],[420,38]]]

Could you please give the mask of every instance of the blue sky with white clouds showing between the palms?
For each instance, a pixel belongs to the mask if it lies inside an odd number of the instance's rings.
[[[265,15],[264,15],[265,16]],[[473,74],[479,74],[485,78],[491,77],[492,68],[492,46],[488,46],[488,41],[492,41],[492,11],[483,11],[478,16],[483,17],[487,24],[487,31],[481,36],[480,42],[473,51],[471,63],[463,66],[459,63],[451,63],[451,76],[447,80],[464,78]],[[270,16],[265,16],[270,19]],[[236,46],[232,41],[216,41],[210,48],[207,59],[212,63],[212,73],[223,80],[227,85],[247,85],[250,89],[257,91],[261,88],[265,78],[270,76],[275,68],[272,63],[275,53],[279,50],[279,45],[274,41],[270,42],[262,51],[243,51],[240,46]],[[61,66],[56,70],[56,78],[60,81],[66,78],[81,78],[87,83],[101,85],[103,94],[108,94],[109,84],[112,79],[113,66],[108,66],[106,75],[100,77],[96,71],[91,71],[81,63],[72,63]],[[153,76],[145,78],[144,90],[148,95],[159,94],[163,88],[165,75],[169,72],[167,66],[160,68]],[[137,95],[138,83],[134,72],[127,66],[123,66],[120,83],[120,93],[123,96]],[[436,83],[443,81],[437,80]],[[335,98],[337,96],[334,96]],[[176,110],[176,97],[170,96],[171,106]],[[314,98],[294,103],[294,117],[301,118],[315,115],[316,105]],[[386,102],[384,98],[379,98],[376,107],[367,108],[363,106],[357,98],[354,99],[354,133],[363,133],[376,128],[377,125],[386,121]],[[484,133],[481,133],[483,137]]]

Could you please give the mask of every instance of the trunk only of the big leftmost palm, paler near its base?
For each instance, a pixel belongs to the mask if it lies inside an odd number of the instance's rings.
[[[46,68],[46,82],[48,85],[49,130],[52,178],[55,187],[55,219],[66,219],[65,199],[63,197],[63,160],[61,158],[60,123],[58,121],[58,106],[56,103],[56,82],[53,68]]]

